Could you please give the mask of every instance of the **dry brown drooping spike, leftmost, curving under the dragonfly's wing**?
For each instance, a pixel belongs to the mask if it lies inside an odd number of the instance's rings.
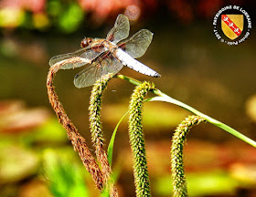
[[[101,170],[96,163],[94,157],[91,155],[91,151],[87,146],[86,140],[80,135],[77,128],[73,125],[65,110],[63,109],[63,106],[59,102],[59,98],[53,87],[53,78],[55,77],[55,74],[64,63],[67,63],[67,61],[69,61],[69,63],[76,63],[84,62],[85,59],[73,57],[65,60],[65,62],[61,61],[49,68],[47,78],[48,99],[52,108],[57,114],[59,123],[61,123],[62,126],[67,130],[69,140],[71,140],[74,150],[77,150],[79,152],[80,160],[82,161],[86,170],[91,173],[91,178],[95,182],[96,187],[101,191],[105,182]]]

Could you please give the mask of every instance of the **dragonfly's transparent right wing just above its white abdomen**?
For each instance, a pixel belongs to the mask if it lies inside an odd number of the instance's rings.
[[[130,38],[118,44],[127,54],[133,58],[142,57],[150,45],[153,33],[147,29],[142,29]]]

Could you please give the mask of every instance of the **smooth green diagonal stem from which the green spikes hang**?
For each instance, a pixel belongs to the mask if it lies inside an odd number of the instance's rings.
[[[116,76],[117,78],[121,78],[121,79],[124,79],[124,80],[127,80],[129,81],[130,83],[134,84],[134,85],[139,85],[141,84],[142,82],[141,81],[138,81],[138,80],[135,80],[133,78],[129,78],[129,77],[126,77],[126,76],[123,76],[123,75],[117,75]],[[230,128],[228,125],[220,122],[219,120],[217,119],[212,119],[211,117],[208,117],[208,115],[206,114],[203,114],[202,112],[198,111],[197,109],[194,109],[190,106],[188,106],[187,104],[179,101],[179,100],[176,100],[176,99],[173,99],[169,96],[167,96],[165,93],[163,93],[162,91],[160,91],[159,89],[155,88],[154,90],[152,90],[155,95],[159,96],[159,97],[155,97],[153,99],[147,99],[147,100],[152,100],[152,101],[166,101],[166,102],[170,102],[170,103],[173,103],[177,106],[180,106],[184,109],[187,109],[188,111],[196,114],[197,116],[200,116],[204,119],[206,119],[209,123],[219,127],[220,129],[222,130],[226,130],[228,131],[230,134],[234,135],[235,137],[239,138],[240,140],[243,140],[249,144],[251,144],[251,146],[255,147],[256,148],[256,141],[254,140],[251,140],[250,138],[246,137],[245,135],[241,134],[239,131],[237,130],[234,130],[233,128]]]

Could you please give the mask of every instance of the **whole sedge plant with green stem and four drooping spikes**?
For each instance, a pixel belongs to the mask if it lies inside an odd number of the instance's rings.
[[[67,62],[68,61],[68,62]],[[85,166],[86,170],[91,173],[91,178],[95,182],[96,187],[102,192],[103,189],[107,189],[110,196],[118,196],[116,186],[112,181],[112,169],[111,169],[111,159],[112,149],[108,152],[105,150],[105,140],[103,137],[103,131],[101,127],[101,103],[102,95],[107,87],[108,81],[113,78],[112,74],[101,77],[93,86],[91,90],[90,99],[90,130],[91,130],[91,140],[95,148],[96,159],[91,153],[91,150],[87,146],[86,140],[80,135],[79,131],[76,129],[74,124],[69,119],[63,106],[59,102],[59,98],[54,90],[53,78],[58,72],[59,68],[65,63],[78,63],[87,61],[84,58],[73,57],[65,61],[61,61],[54,66],[49,68],[48,78],[47,78],[47,88],[48,88],[48,99],[52,108],[55,110],[59,123],[67,130],[67,134],[74,150],[78,151],[80,155],[80,160]],[[144,132],[142,126],[142,111],[145,101],[165,101],[172,104],[176,104],[184,109],[187,109],[195,114],[195,116],[190,116],[176,128],[176,132],[173,136],[173,142],[171,147],[171,170],[173,177],[173,187],[174,196],[187,196],[187,182],[185,179],[184,163],[183,163],[183,144],[187,137],[187,132],[198,123],[204,121],[209,122],[218,126],[219,128],[228,131],[232,135],[236,136],[240,140],[251,144],[256,147],[256,142],[242,135],[237,130],[230,128],[222,122],[216,119],[212,119],[207,115],[193,109],[186,104],[170,98],[165,95],[159,89],[155,88],[155,85],[150,82],[140,82],[133,78],[128,78],[123,75],[117,75],[116,78],[124,79],[136,87],[133,90],[133,95],[131,97],[129,106],[129,139],[130,145],[133,152],[133,176],[136,196],[151,196],[150,192],[150,181],[147,171],[147,161],[146,161],[146,150],[144,141]],[[144,99],[148,92],[153,92],[156,97],[150,99]],[[116,131],[116,130],[115,130]],[[115,134],[115,133],[114,133]],[[114,135],[113,137],[114,138]],[[113,140],[112,140],[113,143]],[[110,156],[111,155],[111,156]],[[171,176],[170,176],[171,177]]]

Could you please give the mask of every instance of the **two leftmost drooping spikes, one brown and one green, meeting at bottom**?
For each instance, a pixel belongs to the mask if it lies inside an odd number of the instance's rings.
[[[55,92],[53,86],[53,79],[56,73],[59,71],[59,68],[65,63],[73,63],[73,62],[83,62],[84,59],[78,58],[70,58],[69,60],[65,60],[55,64],[54,66],[49,68],[48,78],[47,78],[47,88],[48,88],[48,99],[55,110],[57,117],[59,119],[59,123],[62,124],[65,130],[67,130],[67,134],[71,144],[74,147],[74,150],[78,151],[80,160],[85,166],[86,170],[91,173],[91,178],[95,182],[96,187],[103,191],[104,188],[107,188],[110,191],[112,197],[118,196],[116,188],[114,185],[109,184],[111,167],[107,160],[107,154],[104,150],[103,144],[103,135],[101,131],[101,96],[106,88],[107,82],[112,75],[105,76],[97,81],[94,88],[91,91],[91,106],[90,106],[90,114],[91,114],[91,139],[93,145],[95,146],[95,152],[97,156],[97,160],[101,163],[101,168],[95,158],[93,157],[91,150],[89,149],[86,140],[80,135],[77,128],[69,119],[67,113],[63,109],[62,104],[59,102],[59,98]]]

